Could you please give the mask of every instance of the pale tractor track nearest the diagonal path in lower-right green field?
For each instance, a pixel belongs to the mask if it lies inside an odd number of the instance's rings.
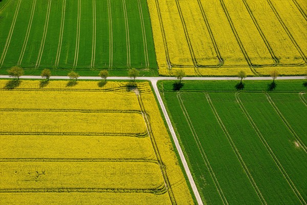
[[[193,126],[193,124],[191,122],[189,114],[188,114],[188,112],[187,112],[187,110],[186,110],[186,108],[185,108],[185,106],[183,104],[183,101],[181,99],[180,93],[177,93],[177,98],[178,98],[178,101],[179,101],[179,104],[180,104],[180,108],[181,108],[181,110],[182,110],[182,112],[183,112],[183,114],[184,114],[184,116],[186,118],[186,121],[188,122],[190,130],[191,130],[192,135],[194,137],[194,140],[195,140],[195,142],[196,142],[196,144],[197,144],[197,146],[198,146],[198,148],[199,148],[199,150],[201,152],[202,158],[204,159],[206,167],[207,167],[207,169],[208,169],[208,171],[210,173],[210,176],[211,176],[211,178],[212,178],[212,180],[214,182],[215,188],[216,188],[218,194],[220,195],[220,197],[221,197],[221,199],[223,201],[223,204],[228,204],[228,201],[227,201],[227,199],[226,199],[226,197],[225,197],[225,195],[223,193],[223,190],[222,190],[222,188],[220,186],[220,183],[218,182],[218,180],[217,180],[217,178],[216,178],[216,176],[214,174],[214,171],[213,171],[213,169],[212,169],[212,167],[210,165],[210,162],[209,162],[209,160],[207,158],[207,155],[206,155],[206,153],[204,151],[204,148],[203,148],[203,146],[201,144],[201,141],[200,141],[200,139],[199,139],[199,137],[198,137],[198,135],[197,135],[197,133],[196,133],[196,131],[194,129],[194,126]]]

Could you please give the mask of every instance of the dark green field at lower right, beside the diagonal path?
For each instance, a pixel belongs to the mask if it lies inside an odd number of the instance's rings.
[[[208,204],[305,204],[307,106],[302,80],[173,81],[159,89]]]

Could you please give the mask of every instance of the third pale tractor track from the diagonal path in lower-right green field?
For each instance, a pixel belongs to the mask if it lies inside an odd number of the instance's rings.
[[[258,137],[260,138],[260,140],[262,141],[262,144],[264,144],[264,146],[267,148],[269,154],[271,155],[271,157],[273,158],[274,162],[276,163],[279,171],[282,173],[283,177],[287,180],[289,186],[291,187],[292,191],[295,193],[295,195],[298,197],[298,199],[300,200],[300,202],[302,204],[306,204],[304,198],[301,196],[300,192],[297,190],[296,186],[294,185],[293,181],[291,180],[291,178],[289,177],[288,173],[286,172],[286,170],[284,170],[284,168],[282,167],[281,163],[279,162],[278,158],[275,156],[273,150],[271,149],[271,147],[269,146],[267,140],[265,139],[265,137],[262,135],[262,133],[260,132],[260,130],[258,129],[257,125],[255,124],[254,120],[252,119],[252,117],[250,116],[250,114],[248,113],[247,109],[245,108],[244,104],[242,103],[241,99],[239,98],[239,95],[241,93],[235,93],[235,97],[236,97],[236,101],[240,107],[240,109],[243,111],[243,113],[245,114],[245,116],[247,117],[248,121],[250,122],[250,124],[252,125],[252,127],[254,128],[255,132],[257,133]]]

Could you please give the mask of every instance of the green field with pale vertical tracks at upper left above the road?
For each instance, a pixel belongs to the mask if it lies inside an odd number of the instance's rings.
[[[1,74],[12,66],[26,74],[158,72],[146,1],[4,0],[0,16]]]

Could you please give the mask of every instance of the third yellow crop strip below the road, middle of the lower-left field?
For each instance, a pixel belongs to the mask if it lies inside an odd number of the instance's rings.
[[[33,143],[34,141],[35,143]],[[48,150],[48,152],[42,152],[42,150]],[[112,156],[110,156],[110,153],[112,153]],[[25,137],[24,135],[2,135],[0,143],[0,156],[2,158],[153,160],[155,159],[154,154],[149,137],[85,137],[83,135],[27,135]]]

